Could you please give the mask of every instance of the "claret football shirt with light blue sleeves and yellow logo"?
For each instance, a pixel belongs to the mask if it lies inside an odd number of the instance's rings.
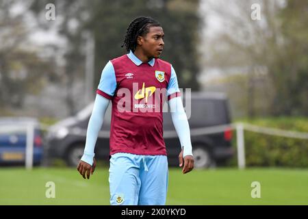
[[[110,155],[166,155],[162,108],[181,95],[171,64],[142,63],[130,51],[106,64],[97,94],[112,101]]]

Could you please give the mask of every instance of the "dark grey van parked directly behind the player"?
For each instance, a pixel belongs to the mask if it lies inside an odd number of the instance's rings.
[[[186,100],[183,99],[184,107],[185,102]],[[231,123],[227,97],[220,93],[192,92],[190,103],[191,113],[190,116],[188,115],[188,122],[190,123],[195,167],[202,168],[223,164],[233,156],[231,129],[226,127],[220,133],[210,134],[203,133],[203,129]],[[107,160],[109,157],[110,106],[105,114],[103,127],[95,146],[97,159]],[[93,103],[76,116],[66,118],[51,127],[47,135],[49,158],[62,158],[69,166],[77,166],[84,153],[86,129],[92,107]],[[188,110],[185,111],[188,114]],[[164,140],[169,165],[178,166],[181,146],[170,112],[164,113]]]

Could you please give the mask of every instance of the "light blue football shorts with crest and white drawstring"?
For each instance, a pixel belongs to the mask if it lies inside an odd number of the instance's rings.
[[[165,205],[168,160],[165,155],[116,153],[110,158],[111,205]]]

